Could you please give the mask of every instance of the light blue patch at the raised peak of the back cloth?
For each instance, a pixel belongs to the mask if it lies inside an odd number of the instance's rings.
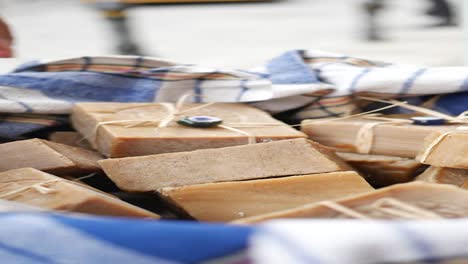
[[[300,52],[290,51],[267,64],[269,79],[273,84],[318,83],[314,71],[302,59]]]

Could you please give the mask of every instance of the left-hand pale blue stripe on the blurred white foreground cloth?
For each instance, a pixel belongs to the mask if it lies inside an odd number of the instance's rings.
[[[275,240],[281,247],[286,249],[289,253],[289,256],[293,256],[298,262],[295,263],[305,263],[305,264],[319,264],[323,261],[320,261],[318,257],[312,256],[310,253],[311,248],[309,247],[308,252],[304,252],[299,246],[297,246],[293,241],[290,241],[285,236],[279,234],[278,232],[272,232],[266,228],[257,228],[256,231],[258,236],[265,236],[267,239]]]

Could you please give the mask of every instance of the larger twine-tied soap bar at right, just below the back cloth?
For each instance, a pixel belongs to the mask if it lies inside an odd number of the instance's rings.
[[[369,124],[381,123],[376,126]],[[304,120],[302,122],[302,132],[306,133],[310,139],[325,146],[336,148],[342,152],[358,152],[357,137],[360,129],[373,131],[370,142],[371,147],[368,153],[398,156],[414,159],[418,151],[423,147],[424,138],[432,131],[449,131],[454,126],[419,126],[411,124],[385,124],[381,121],[349,118],[341,120]]]

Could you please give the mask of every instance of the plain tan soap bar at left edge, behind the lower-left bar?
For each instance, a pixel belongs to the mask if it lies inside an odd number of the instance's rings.
[[[102,159],[93,151],[37,138],[0,144],[0,157],[0,172],[31,167],[56,175],[97,172]]]

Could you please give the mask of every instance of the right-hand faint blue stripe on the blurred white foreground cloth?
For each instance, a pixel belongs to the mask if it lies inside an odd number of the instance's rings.
[[[416,232],[416,230],[411,229],[408,225],[398,222],[391,223],[390,226],[397,230],[398,233],[404,237],[404,240],[408,242],[408,245],[419,253],[421,260],[418,261],[423,261],[424,263],[437,263],[438,257],[434,255],[431,243],[424,239],[424,237]]]

